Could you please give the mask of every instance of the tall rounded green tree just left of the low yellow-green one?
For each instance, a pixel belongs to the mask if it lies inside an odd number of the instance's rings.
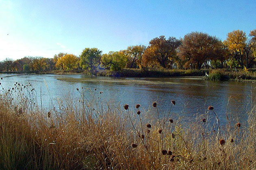
[[[97,48],[85,48],[80,55],[80,66],[82,69],[95,70],[100,64],[102,51]]]

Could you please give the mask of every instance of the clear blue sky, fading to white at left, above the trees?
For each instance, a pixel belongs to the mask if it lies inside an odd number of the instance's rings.
[[[255,0],[0,0],[0,60],[103,53],[192,31],[256,29]]]

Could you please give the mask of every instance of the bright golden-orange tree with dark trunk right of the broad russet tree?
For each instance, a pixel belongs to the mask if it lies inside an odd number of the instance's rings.
[[[244,57],[246,47],[246,34],[242,30],[234,30],[228,33],[227,39],[224,44],[230,49],[235,60],[238,61],[239,65],[243,68]]]

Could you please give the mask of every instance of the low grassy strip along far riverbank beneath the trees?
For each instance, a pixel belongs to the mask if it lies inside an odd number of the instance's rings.
[[[86,74],[103,77],[134,77],[134,78],[161,78],[161,77],[202,77],[210,81],[254,81],[256,80],[256,69],[232,70],[232,69],[122,69],[119,71],[98,70],[89,72],[86,70],[52,70],[52,71],[12,71],[0,72],[0,74]]]

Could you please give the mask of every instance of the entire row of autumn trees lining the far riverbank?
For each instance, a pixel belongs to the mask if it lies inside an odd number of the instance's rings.
[[[242,30],[229,32],[226,40],[204,32],[191,32],[183,38],[159,36],[149,45],[102,54],[85,48],[79,56],[55,54],[53,58],[23,57],[0,62],[0,71],[121,70],[123,68],[256,68],[256,29],[247,36]]]

